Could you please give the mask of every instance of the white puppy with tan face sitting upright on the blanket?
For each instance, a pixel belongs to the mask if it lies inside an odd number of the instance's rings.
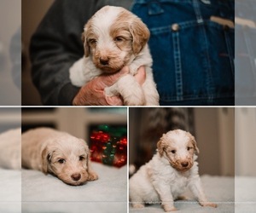
[[[216,207],[207,201],[198,175],[195,153],[199,153],[194,136],[183,130],[162,135],[158,151],[130,179],[130,200],[134,208],[144,203],[161,203],[165,211],[176,210],[173,200],[189,187],[202,206]]]

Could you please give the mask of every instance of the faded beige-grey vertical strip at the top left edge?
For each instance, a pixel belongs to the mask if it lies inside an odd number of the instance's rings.
[[[0,1],[0,105],[21,104],[21,1]]]

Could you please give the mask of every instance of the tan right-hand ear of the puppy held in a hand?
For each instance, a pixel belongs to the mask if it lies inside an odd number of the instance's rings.
[[[148,42],[150,32],[148,27],[139,18],[132,21],[130,32],[132,36],[132,49],[134,54],[137,55]]]

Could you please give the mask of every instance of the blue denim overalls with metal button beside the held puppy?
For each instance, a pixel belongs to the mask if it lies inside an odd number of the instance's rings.
[[[135,0],[150,30],[160,105],[234,105],[234,0]]]

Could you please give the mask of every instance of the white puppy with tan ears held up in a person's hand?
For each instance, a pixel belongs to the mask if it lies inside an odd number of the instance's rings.
[[[148,27],[135,14],[120,7],[100,9],[84,26],[84,57],[70,68],[71,82],[81,87],[102,73],[119,72],[129,66],[129,74],[105,88],[106,100],[121,95],[125,105],[159,105],[148,38]],[[140,66],[146,69],[142,86],[134,78]]]

